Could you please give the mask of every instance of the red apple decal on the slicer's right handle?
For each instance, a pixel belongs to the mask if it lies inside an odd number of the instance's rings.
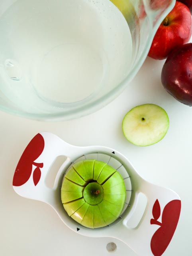
[[[162,223],[158,221],[161,215],[159,201],[156,200],[153,206],[153,219],[151,224],[161,226],[151,239],[151,251],[154,256],[161,256],[169,245],[176,230],[181,210],[181,201],[172,200],[164,208],[162,213]]]

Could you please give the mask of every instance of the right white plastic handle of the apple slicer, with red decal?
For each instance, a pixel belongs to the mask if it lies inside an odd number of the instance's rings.
[[[139,181],[140,180],[140,181]],[[161,256],[178,224],[181,201],[172,190],[138,179],[137,192],[147,196],[147,206],[136,228],[127,227],[125,218],[115,228],[116,237],[140,256]]]

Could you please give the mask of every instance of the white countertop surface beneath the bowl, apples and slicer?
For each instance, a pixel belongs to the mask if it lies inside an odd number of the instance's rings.
[[[0,112],[0,255],[136,256],[114,238],[88,238],[74,233],[47,204],[18,196],[12,178],[28,142],[41,131],[53,132],[77,146],[109,146],[124,154],[149,182],[171,188],[182,200],[176,232],[165,256],[190,256],[192,241],[192,108],[170,96],[161,84],[165,61],[147,58],[126,90],[103,109],[67,122],[37,122]],[[121,131],[124,115],[132,107],[154,103],[169,116],[169,130],[148,147],[129,143]],[[108,242],[117,250],[109,253]]]

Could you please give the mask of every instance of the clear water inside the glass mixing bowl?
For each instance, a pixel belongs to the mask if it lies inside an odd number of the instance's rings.
[[[109,91],[131,64],[129,27],[109,0],[18,0],[0,34],[0,88],[25,110]]]

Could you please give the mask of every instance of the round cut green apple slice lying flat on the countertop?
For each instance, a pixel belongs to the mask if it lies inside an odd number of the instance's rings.
[[[169,127],[166,111],[155,104],[132,108],[123,118],[125,138],[137,146],[149,146],[163,139]]]

